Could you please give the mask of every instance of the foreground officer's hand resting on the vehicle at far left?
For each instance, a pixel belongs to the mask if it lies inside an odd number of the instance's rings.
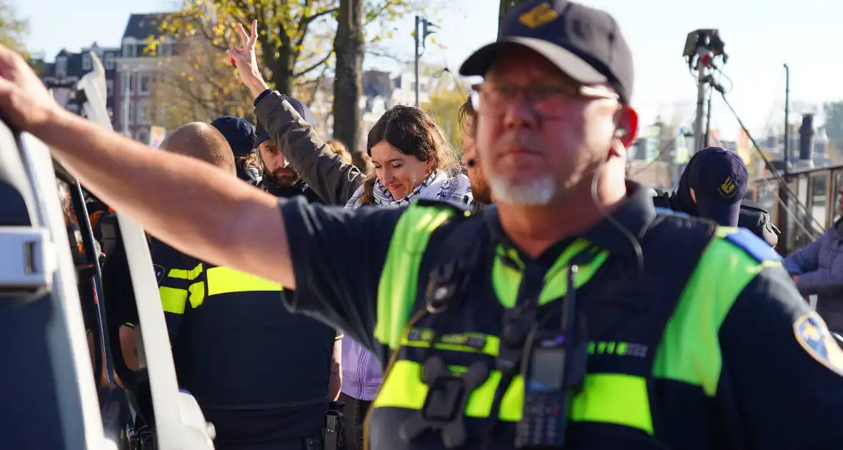
[[[44,83],[16,51],[0,45],[0,115],[20,130],[35,129],[62,111]]]

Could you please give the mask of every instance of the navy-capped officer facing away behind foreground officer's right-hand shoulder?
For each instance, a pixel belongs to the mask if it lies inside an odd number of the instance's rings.
[[[695,153],[679,178],[679,189],[672,194],[657,191],[657,207],[705,217],[724,227],[744,227],[771,247],[779,242],[778,228],[770,213],[744,198],[749,172],[738,153],[722,147],[707,147]]]

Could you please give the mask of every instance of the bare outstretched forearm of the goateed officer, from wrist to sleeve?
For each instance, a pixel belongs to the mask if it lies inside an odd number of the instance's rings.
[[[34,134],[94,195],[167,244],[293,287],[274,197],[211,164],[154,150],[64,111]]]

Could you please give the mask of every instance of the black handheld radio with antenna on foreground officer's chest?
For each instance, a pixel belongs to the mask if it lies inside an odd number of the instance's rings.
[[[574,275],[568,271],[568,290],[558,329],[536,329],[528,343],[524,374],[524,411],[516,426],[515,446],[540,450],[565,446],[571,388],[582,384],[588,358],[583,325],[577,326]],[[537,325],[538,326],[538,325]]]

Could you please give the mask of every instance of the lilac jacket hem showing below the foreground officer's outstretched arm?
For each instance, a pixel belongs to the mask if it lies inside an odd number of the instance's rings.
[[[358,400],[378,396],[383,379],[380,362],[347,335],[342,338],[342,393]]]

